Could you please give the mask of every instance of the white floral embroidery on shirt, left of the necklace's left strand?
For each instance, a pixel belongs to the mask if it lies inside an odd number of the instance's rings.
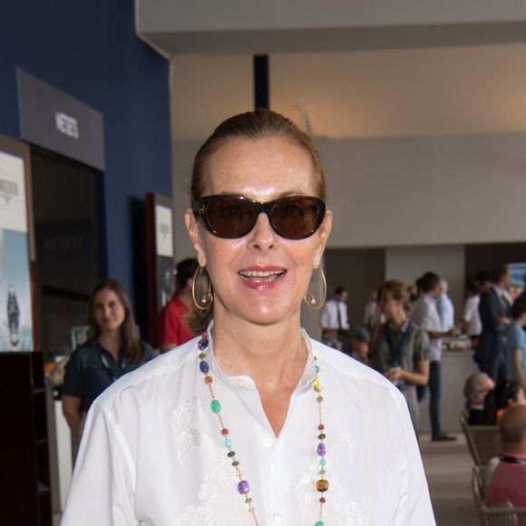
[[[250,516],[236,490],[238,481],[225,449],[197,428],[202,414],[202,404],[196,398],[173,412],[173,448],[178,462],[183,466],[190,455],[199,454],[203,469],[194,502],[186,507],[173,526],[249,526]]]

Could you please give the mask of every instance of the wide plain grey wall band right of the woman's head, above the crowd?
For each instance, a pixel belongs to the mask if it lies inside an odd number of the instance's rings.
[[[526,133],[317,140],[329,247],[521,241]]]

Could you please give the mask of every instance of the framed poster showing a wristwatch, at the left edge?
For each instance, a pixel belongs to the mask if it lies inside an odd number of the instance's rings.
[[[0,135],[0,352],[38,346],[29,147]]]

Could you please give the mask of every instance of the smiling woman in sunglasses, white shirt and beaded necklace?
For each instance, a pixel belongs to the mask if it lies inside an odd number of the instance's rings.
[[[198,338],[88,415],[64,526],[434,524],[400,392],[300,329],[331,229],[312,141],[258,110],[198,151]]]

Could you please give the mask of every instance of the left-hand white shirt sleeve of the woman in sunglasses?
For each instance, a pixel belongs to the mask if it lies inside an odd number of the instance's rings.
[[[61,526],[137,526],[132,454],[112,414],[95,402],[83,440]]]

